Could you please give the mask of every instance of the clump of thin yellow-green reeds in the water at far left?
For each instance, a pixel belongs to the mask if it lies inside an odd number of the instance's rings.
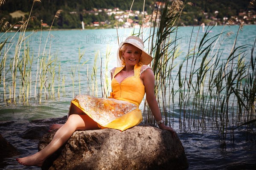
[[[27,40],[29,39],[29,36],[33,34],[32,32],[30,35],[26,35],[27,27],[29,22],[33,22],[36,18],[31,16],[32,15],[32,9],[36,2],[41,2],[40,0],[33,0],[32,8],[29,13],[28,19],[23,18],[23,21],[20,21],[21,27],[18,29],[18,31],[14,34],[12,38],[6,38],[6,40],[1,43],[0,49],[4,47],[5,52],[3,55],[3,58],[1,59],[1,65],[0,65],[0,73],[1,77],[0,79],[3,79],[3,100],[5,100],[7,103],[14,102],[16,103],[17,98],[17,92],[16,89],[19,89],[18,98],[19,102],[28,103],[29,99],[32,99],[32,84],[34,84],[34,79],[32,78],[32,63],[33,63],[33,57],[34,54],[30,51],[29,44]],[[55,18],[58,18],[61,13],[61,10],[58,10],[54,16]],[[53,19],[53,21],[54,21]],[[41,20],[42,23],[42,20]],[[5,28],[7,25],[4,24]],[[51,30],[52,26],[50,27]],[[9,28],[10,29],[10,28]],[[7,31],[9,31],[9,29]],[[3,30],[3,29],[2,29]],[[49,34],[50,34],[49,30]],[[7,31],[2,35],[2,37],[7,33]],[[49,37],[48,34],[48,37]],[[42,27],[41,27],[41,35],[42,35]],[[17,43],[14,39],[18,36]],[[52,36],[52,35],[51,35]],[[7,43],[7,40],[9,39],[9,42]],[[39,49],[38,49],[38,59],[37,59],[37,70],[36,70],[36,77],[35,77],[35,94],[34,99],[37,101],[37,96],[39,96],[38,101],[41,103],[41,97],[44,89],[44,98],[47,99],[49,97],[54,98],[55,95],[55,66],[56,66],[56,58],[52,60],[52,54],[51,54],[51,38],[49,39],[49,53],[48,56],[45,55],[45,48],[47,45],[47,42],[44,47],[44,52],[41,55],[40,54],[40,45],[41,40],[39,43]],[[14,56],[10,59],[10,65],[9,69],[6,69],[6,59],[9,56],[9,51],[12,48],[12,46],[15,46],[14,50]],[[32,56],[32,57],[31,57]],[[48,58],[48,61],[46,60],[46,57]],[[60,69],[60,68],[59,68]],[[2,78],[3,73],[3,78]],[[9,81],[6,82],[6,74],[10,74],[12,76],[12,84]],[[37,82],[39,78],[39,83],[37,87]],[[1,81],[0,80],[0,81]],[[7,84],[6,84],[7,83]],[[18,84],[17,84],[18,83]],[[17,87],[18,85],[18,87]],[[9,100],[7,100],[7,92],[6,88],[9,88]],[[38,89],[38,94],[37,94]]]

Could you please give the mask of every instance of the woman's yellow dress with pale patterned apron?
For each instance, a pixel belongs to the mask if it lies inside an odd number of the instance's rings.
[[[101,128],[126,130],[142,121],[139,105],[145,95],[145,86],[140,80],[140,65],[134,66],[134,76],[125,78],[121,83],[114,78],[123,67],[115,68],[111,81],[111,96],[97,98],[77,95],[71,102],[90,116]]]

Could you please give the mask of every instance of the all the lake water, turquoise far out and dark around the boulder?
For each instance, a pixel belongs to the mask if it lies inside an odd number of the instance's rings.
[[[209,33],[208,37],[219,34],[223,26],[214,27]],[[225,27],[225,31],[233,31],[235,34],[227,36],[223,34],[220,37],[218,45],[220,45],[223,51],[223,59],[227,58],[230,54],[230,50],[233,46],[233,42],[236,38],[236,31],[239,26]],[[131,33],[131,29],[119,29],[119,41],[125,40],[127,34]],[[192,32],[192,38],[191,38]],[[26,42],[30,46],[31,55],[34,54],[34,60],[32,65],[32,75],[36,75],[37,70],[37,55],[39,50],[40,39],[42,41],[40,46],[41,54],[44,51],[44,45],[47,40],[48,31],[41,32],[27,32],[31,34],[30,38]],[[116,50],[118,48],[116,29],[95,29],[95,30],[63,30],[63,31],[51,31],[52,37],[48,38],[47,45],[45,48],[45,54],[49,51],[52,55],[58,56],[58,61],[61,65],[60,77],[65,75],[65,95],[61,94],[60,97],[55,95],[54,99],[43,100],[41,104],[35,103],[32,99],[29,103],[23,105],[17,102],[16,105],[10,105],[9,103],[3,102],[3,84],[0,85],[0,133],[3,137],[13,144],[21,153],[18,157],[23,157],[35,153],[37,151],[38,140],[22,139],[21,135],[29,127],[36,126],[30,122],[34,119],[47,119],[52,117],[61,117],[67,115],[70,100],[75,94],[79,94],[78,84],[78,58],[79,48],[81,51],[85,50],[85,54],[81,59],[80,63],[87,61],[87,63],[80,68],[81,76],[81,93],[88,94],[90,88],[88,88],[87,73],[91,74],[93,68],[94,56],[99,51],[100,57],[102,57],[102,63],[105,63],[105,53],[107,49],[111,49],[111,61],[108,64],[108,68],[116,66]],[[145,33],[145,37],[149,34],[149,31]],[[191,43],[195,43],[194,37],[198,34],[198,37],[203,37],[204,32],[201,30],[198,33],[198,27],[181,27],[178,29],[177,36],[180,38],[178,41],[180,56],[186,56],[189,40]],[[8,33],[8,35],[15,36],[12,42],[17,41],[18,35],[15,33]],[[175,35],[173,35],[175,36]],[[5,39],[6,35],[1,37],[1,42]],[[251,47],[256,38],[256,26],[244,26],[243,31],[239,33],[237,46],[247,44],[247,54],[250,54]],[[10,43],[11,44],[11,43]],[[146,43],[145,43],[146,44]],[[14,43],[15,45],[15,43]],[[108,47],[109,46],[109,47]],[[255,57],[254,52],[254,57]],[[11,58],[14,56],[14,46],[10,49],[8,57],[6,59],[6,65],[9,67]],[[1,55],[1,59],[2,59]],[[179,60],[177,59],[177,63]],[[250,60],[248,55],[247,60]],[[98,65],[98,71],[96,72],[99,76],[100,62],[99,59],[96,62]],[[87,68],[88,67],[88,68]],[[71,69],[76,68],[75,85],[73,92],[72,85],[72,72]],[[105,68],[105,65],[102,65]],[[55,68],[58,71],[58,66]],[[6,72],[8,69],[6,69]],[[90,76],[90,75],[89,75]],[[11,74],[7,72],[6,79],[11,79]],[[35,81],[33,79],[33,81]],[[55,89],[58,88],[58,77],[55,79]],[[10,85],[7,82],[7,87]],[[61,84],[61,83],[60,83]],[[100,89],[100,81],[98,80],[98,87]],[[19,87],[17,87],[17,91]],[[101,96],[99,90],[98,95]],[[32,91],[33,96],[33,91]],[[18,101],[18,100],[17,100]],[[12,121],[12,122],[10,122]],[[4,122],[9,122],[3,124]],[[191,129],[183,130],[179,129],[179,113],[174,113],[174,120],[172,126],[177,131],[178,136],[183,143],[185,153],[189,161],[189,170],[201,170],[201,169],[212,169],[212,170],[240,170],[240,169],[256,169],[256,135],[248,132],[245,127],[241,127],[235,130],[234,138],[229,134],[227,136],[226,146],[220,142],[218,136],[219,130],[212,128],[209,123],[207,128],[204,130]],[[234,140],[233,140],[234,139]],[[16,158],[16,157],[15,157]],[[1,169],[6,170],[17,170],[17,169],[40,169],[35,167],[24,167],[15,161],[15,158],[5,159],[0,163]]]

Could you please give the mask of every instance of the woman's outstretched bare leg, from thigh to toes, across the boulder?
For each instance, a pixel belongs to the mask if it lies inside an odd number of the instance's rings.
[[[17,158],[20,164],[26,166],[41,167],[52,153],[58,150],[72,136],[76,130],[95,130],[99,129],[96,122],[88,115],[72,114],[67,119],[67,122],[55,133],[52,141],[38,153],[24,158]]]

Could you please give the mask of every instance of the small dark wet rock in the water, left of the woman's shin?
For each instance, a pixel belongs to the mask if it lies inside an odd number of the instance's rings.
[[[40,139],[44,134],[48,133],[49,126],[36,126],[26,130],[21,136],[23,139]]]

